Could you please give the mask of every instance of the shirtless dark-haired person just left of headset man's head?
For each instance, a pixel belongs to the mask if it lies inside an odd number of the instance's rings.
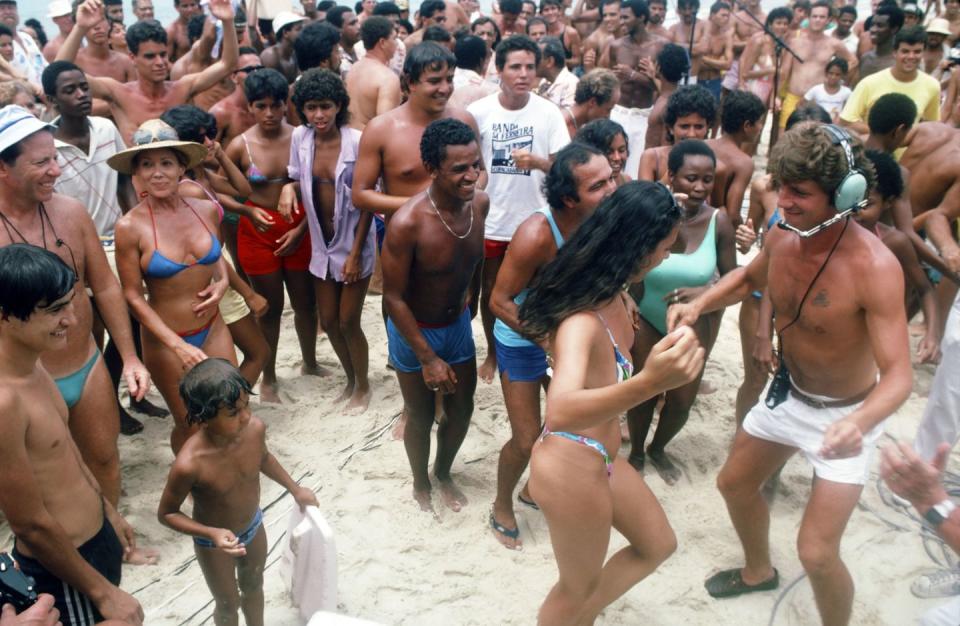
[[[753,158],[740,146],[753,145],[763,132],[763,116],[767,107],[749,91],[731,91],[720,107],[721,135],[708,139],[707,145],[717,157],[717,171],[723,170],[714,182],[720,187],[722,207],[734,228],[740,225],[743,196],[753,178]]]

